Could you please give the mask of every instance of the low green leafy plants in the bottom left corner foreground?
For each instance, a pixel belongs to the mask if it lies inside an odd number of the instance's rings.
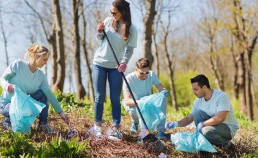
[[[0,157],[82,157],[87,155],[88,142],[76,142],[78,137],[71,141],[63,139],[61,136],[52,139],[49,144],[43,142],[34,147],[28,135],[21,133],[3,133],[1,134]]]

